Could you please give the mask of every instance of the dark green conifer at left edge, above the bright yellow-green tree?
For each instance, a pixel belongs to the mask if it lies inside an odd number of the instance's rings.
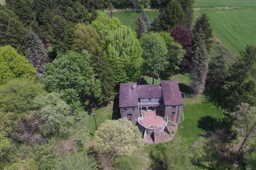
[[[20,54],[27,54],[27,28],[19,21],[16,14],[7,9],[0,8],[0,45],[11,45]]]

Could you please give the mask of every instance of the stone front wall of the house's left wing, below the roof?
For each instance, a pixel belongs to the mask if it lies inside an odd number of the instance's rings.
[[[138,106],[120,108],[121,118],[127,118],[132,122],[137,121],[139,112],[140,108]]]

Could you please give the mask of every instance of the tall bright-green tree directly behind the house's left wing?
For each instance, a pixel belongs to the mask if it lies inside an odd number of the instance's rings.
[[[112,65],[116,83],[135,81],[142,75],[142,48],[130,28],[109,31],[106,37],[107,56]]]

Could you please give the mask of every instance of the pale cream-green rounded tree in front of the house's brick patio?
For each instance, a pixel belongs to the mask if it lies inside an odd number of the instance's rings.
[[[131,155],[142,147],[138,127],[127,119],[105,120],[94,135],[94,147],[100,153],[116,156]]]

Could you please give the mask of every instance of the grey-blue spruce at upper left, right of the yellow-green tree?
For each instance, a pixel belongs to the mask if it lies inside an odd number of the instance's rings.
[[[43,73],[43,65],[48,62],[48,54],[45,45],[33,31],[28,33],[28,58],[40,77]]]

